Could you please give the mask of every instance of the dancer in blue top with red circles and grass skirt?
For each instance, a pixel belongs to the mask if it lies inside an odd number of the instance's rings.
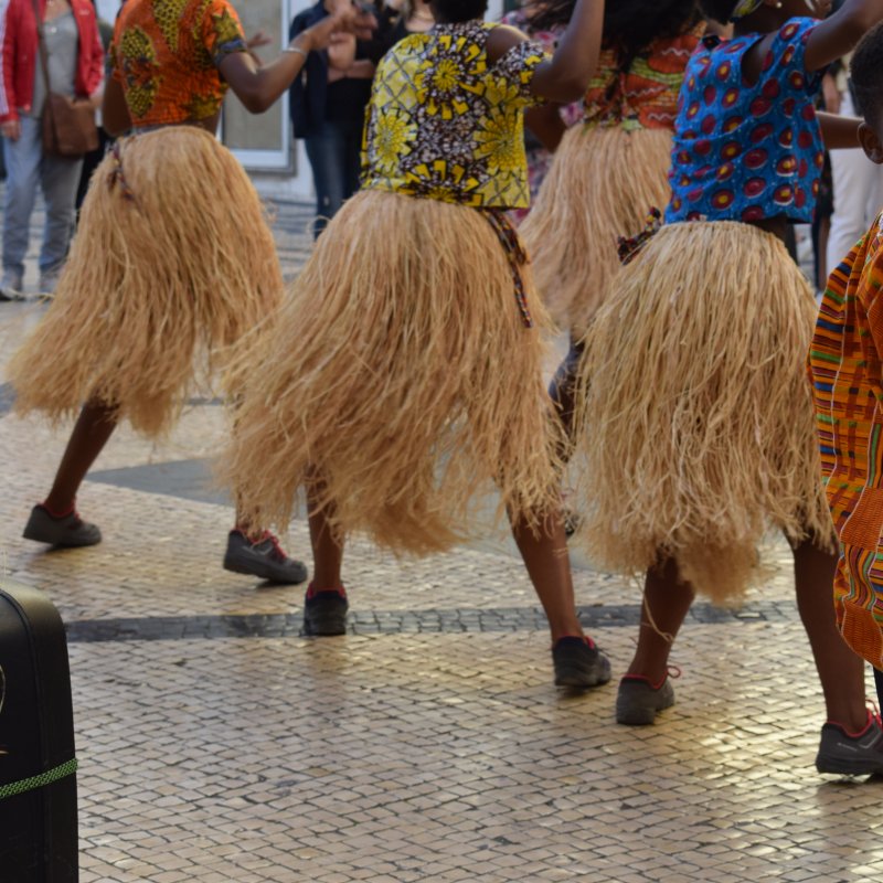
[[[809,6],[823,17],[829,3]],[[817,119],[821,71],[883,18],[883,1],[848,0],[825,21],[799,18],[804,0],[701,7],[732,18],[735,35],[708,38],[690,60],[668,223],[596,313],[578,379],[592,553],[646,572],[617,720],[649,724],[673,703],[669,652],[694,592],[738,598],[773,525],[794,547],[828,712],[817,768],[883,772],[862,661],[830,604],[837,558],[804,372],[815,300],[783,244],[789,221],[811,217],[822,131],[830,147],[857,137],[855,120]]]

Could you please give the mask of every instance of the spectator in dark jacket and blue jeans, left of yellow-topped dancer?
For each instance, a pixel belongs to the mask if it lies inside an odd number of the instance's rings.
[[[330,0],[319,0],[295,15],[289,39],[325,19],[329,6]],[[376,62],[387,46],[381,34],[373,40],[341,35],[328,49],[310,52],[291,85],[295,137],[306,142],[316,189],[316,237],[359,190],[365,107]]]

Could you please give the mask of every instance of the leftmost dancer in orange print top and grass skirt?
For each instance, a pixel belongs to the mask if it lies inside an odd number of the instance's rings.
[[[275,62],[249,53],[227,0],[128,0],[110,50],[104,125],[134,129],[96,170],[55,301],[9,374],[20,413],[79,413],[55,481],[24,536],[60,546],[100,542],[76,492],[117,424],[151,437],[173,424],[224,348],[278,304],[281,274],[257,194],[214,137],[227,86],[267,109],[307,53],[366,23],[349,8],[299,34]],[[201,372],[200,372],[201,373]],[[267,531],[231,531],[224,566],[302,582]]]

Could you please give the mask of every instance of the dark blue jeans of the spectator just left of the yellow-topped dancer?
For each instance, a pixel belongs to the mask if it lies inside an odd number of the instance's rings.
[[[362,123],[361,118],[326,120],[317,135],[304,139],[316,188],[316,238],[343,201],[359,190]]]

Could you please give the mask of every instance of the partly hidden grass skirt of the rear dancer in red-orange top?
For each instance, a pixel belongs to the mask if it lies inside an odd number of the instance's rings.
[[[619,267],[617,240],[670,198],[668,129],[575,126],[555,151],[520,227],[536,289],[557,325],[581,336]]]

